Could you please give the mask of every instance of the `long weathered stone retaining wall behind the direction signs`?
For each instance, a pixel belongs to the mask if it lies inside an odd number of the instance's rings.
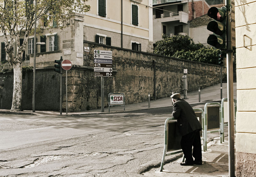
[[[83,111],[101,107],[101,78],[93,74],[93,50],[112,51],[113,77],[104,78],[104,105],[109,93],[124,93],[125,103],[138,103],[171,96],[172,90],[182,90],[183,69],[188,69],[188,92],[220,83],[220,67],[189,60],[181,60],[152,53],[110,47],[84,41],[90,52],[84,52],[84,66],[73,65],[68,73],[68,111]],[[155,69],[154,69],[155,68]],[[155,75],[154,75],[155,73]],[[226,68],[223,68],[226,73]],[[1,81],[0,109],[11,109],[13,75]],[[225,74],[224,74],[225,75]],[[66,109],[66,72],[63,72],[63,110]],[[154,79],[156,84],[154,84]],[[32,109],[33,72],[24,74],[22,107]],[[60,74],[53,67],[36,70],[36,110],[59,110]],[[155,93],[154,93],[155,92]],[[9,101],[8,101],[9,100]]]

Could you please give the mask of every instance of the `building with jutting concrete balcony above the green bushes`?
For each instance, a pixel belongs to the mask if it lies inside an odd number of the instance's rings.
[[[162,39],[162,34],[188,35],[189,20],[206,14],[209,8],[204,0],[153,1],[154,43]]]

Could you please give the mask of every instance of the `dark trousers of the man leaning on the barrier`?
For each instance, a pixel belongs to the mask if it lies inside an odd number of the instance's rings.
[[[195,130],[191,133],[188,133],[187,135],[182,136],[180,145],[187,163],[193,163],[193,157],[195,158],[195,161],[202,161],[200,130]]]

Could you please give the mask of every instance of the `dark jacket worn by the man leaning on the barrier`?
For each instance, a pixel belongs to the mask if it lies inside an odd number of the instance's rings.
[[[195,111],[188,102],[178,99],[173,103],[172,117],[177,119],[177,127],[182,136],[195,130],[202,130],[202,126],[198,121]]]

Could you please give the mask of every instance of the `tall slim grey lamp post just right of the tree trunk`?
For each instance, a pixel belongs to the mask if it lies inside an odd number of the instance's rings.
[[[33,68],[33,101],[32,111],[35,112],[35,95],[36,95],[36,0],[35,0],[35,32],[34,32],[34,68]]]

